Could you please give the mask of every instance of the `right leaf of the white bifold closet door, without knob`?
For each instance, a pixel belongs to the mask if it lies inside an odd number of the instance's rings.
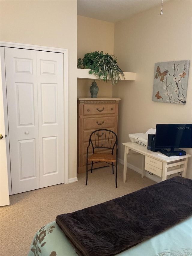
[[[37,51],[40,187],[64,182],[63,54]]]

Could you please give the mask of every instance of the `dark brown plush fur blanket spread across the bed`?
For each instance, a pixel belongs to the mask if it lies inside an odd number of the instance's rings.
[[[79,255],[115,255],[191,215],[191,179],[173,177],[56,222]]]

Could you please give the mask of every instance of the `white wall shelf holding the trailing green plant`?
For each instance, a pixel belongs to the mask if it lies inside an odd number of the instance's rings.
[[[124,74],[125,74],[126,81],[135,81],[136,73],[124,72]],[[95,75],[89,74],[89,69],[85,69],[85,68],[77,68],[77,78],[79,78],[79,79],[95,79],[95,80],[98,79]],[[124,78],[121,77],[121,80],[124,80]]]

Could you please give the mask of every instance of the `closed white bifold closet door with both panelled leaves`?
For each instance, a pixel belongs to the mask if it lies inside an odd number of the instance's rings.
[[[63,54],[5,47],[12,194],[64,182]]]

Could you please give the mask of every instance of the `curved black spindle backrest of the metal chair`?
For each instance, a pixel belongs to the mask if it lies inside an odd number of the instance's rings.
[[[117,149],[117,135],[115,132],[107,129],[98,129],[93,131],[89,137],[89,145],[92,145],[93,152],[94,149],[105,148],[113,150],[116,146]]]

